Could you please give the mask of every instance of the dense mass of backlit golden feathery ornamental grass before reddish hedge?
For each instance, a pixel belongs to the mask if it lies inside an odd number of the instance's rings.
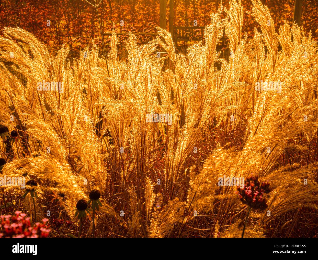
[[[94,44],[70,63],[66,47],[52,57],[5,28],[0,177],[37,186],[23,198],[3,185],[1,214],[48,218],[51,237],[317,236],[317,43],[296,24],[276,32],[252,3],[261,31],[241,37],[232,0],[186,55],[158,28],[144,45],[130,34],[118,60],[113,32],[109,76]],[[228,61],[217,51],[224,32]],[[239,178],[249,183],[240,197],[228,182]]]

